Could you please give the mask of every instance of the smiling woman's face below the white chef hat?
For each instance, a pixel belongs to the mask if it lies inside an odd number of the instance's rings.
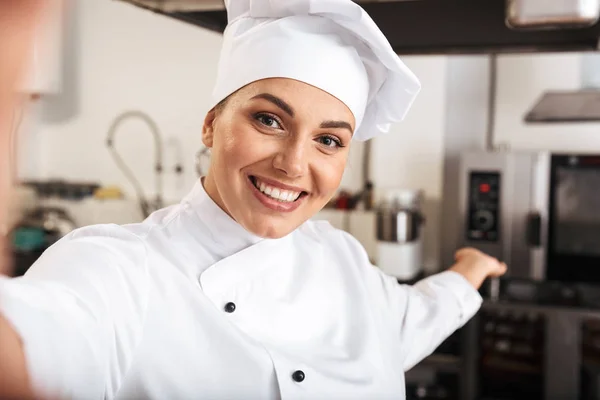
[[[212,156],[205,189],[246,230],[285,236],[334,195],[353,131],[346,105],[314,86],[254,82],[206,116],[202,141]]]

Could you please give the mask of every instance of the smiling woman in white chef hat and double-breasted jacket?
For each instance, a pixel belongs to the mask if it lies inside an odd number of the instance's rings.
[[[402,119],[419,83],[350,0],[228,12],[207,176],[179,205],[77,230],[0,281],[39,396],[403,398],[404,371],[505,270],[464,249],[402,286],[350,235],[308,221],[351,141]]]

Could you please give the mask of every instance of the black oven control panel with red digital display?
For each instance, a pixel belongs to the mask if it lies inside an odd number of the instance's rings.
[[[500,173],[471,172],[468,190],[467,239],[496,242],[500,236]]]

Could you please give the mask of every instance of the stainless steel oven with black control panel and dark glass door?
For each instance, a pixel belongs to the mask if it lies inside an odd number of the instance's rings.
[[[473,151],[459,174],[461,246],[510,278],[600,283],[600,155]]]

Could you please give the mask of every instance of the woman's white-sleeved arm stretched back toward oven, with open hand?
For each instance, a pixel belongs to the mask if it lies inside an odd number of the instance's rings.
[[[373,267],[362,245],[342,233],[345,252],[360,265],[373,307],[384,315],[398,338],[405,370],[430,355],[446,338],[468,322],[481,307],[477,289],[487,277],[500,276],[506,265],[475,249],[461,249],[449,270],[414,285],[399,284]]]

